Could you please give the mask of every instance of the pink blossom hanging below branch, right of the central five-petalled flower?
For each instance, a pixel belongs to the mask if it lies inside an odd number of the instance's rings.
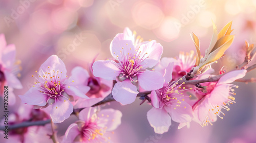
[[[147,120],[156,133],[167,132],[171,125],[171,119],[178,123],[190,122],[193,116],[191,106],[185,100],[182,92],[188,89],[181,88],[178,82],[172,80],[174,63],[169,63],[165,70],[165,83],[161,89],[151,92],[153,108],[147,112]],[[178,80],[179,81],[179,80]]]

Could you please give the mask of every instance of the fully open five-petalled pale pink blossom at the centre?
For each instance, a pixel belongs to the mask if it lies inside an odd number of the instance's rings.
[[[154,67],[163,53],[163,47],[155,40],[141,44],[138,49],[132,40],[126,40],[125,34],[117,34],[111,42],[110,51],[117,60],[99,60],[93,64],[95,77],[117,80],[112,95],[122,104],[135,101],[138,89],[156,90],[163,86],[160,73],[146,68]]]

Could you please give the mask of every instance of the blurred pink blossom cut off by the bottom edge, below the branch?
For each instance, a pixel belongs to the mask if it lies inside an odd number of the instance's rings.
[[[86,108],[79,113],[79,121],[67,129],[62,143],[68,142],[111,142],[108,134],[114,133],[121,124],[119,110]],[[112,131],[112,132],[111,132]]]

